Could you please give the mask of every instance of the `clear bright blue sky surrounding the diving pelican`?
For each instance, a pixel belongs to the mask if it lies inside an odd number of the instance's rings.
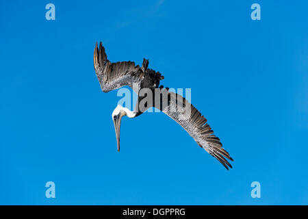
[[[55,21],[45,5],[55,4]],[[261,5],[261,21],[251,5]],[[307,1],[1,1],[0,204],[308,204]],[[192,88],[225,170],[166,115],[123,118],[92,52]],[[54,181],[56,198],[44,187]],[[261,198],[251,198],[251,183]]]

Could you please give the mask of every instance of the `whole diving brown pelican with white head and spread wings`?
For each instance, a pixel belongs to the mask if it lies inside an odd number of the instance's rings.
[[[160,99],[159,107],[156,105],[147,105],[146,107],[157,107],[159,110],[164,112],[167,116],[175,120],[185,131],[187,131],[194,141],[205,149],[207,153],[218,159],[218,161],[227,170],[232,168],[231,164],[227,159],[233,161],[229,153],[222,148],[220,139],[216,137],[211,130],[211,127],[207,124],[207,119],[200,113],[196,108],[186,101],[183,96],[169,92],[168,88],[159,86],[159,81],[164,79],[164,76],[155,70],[148,68],[149,60],[143,59],[142,66],[135,65],[134,62],[110,62],[107,60],[105,48],[100,42],[99,47],[96,43],[94,54],[94,70],[99,79],[101,90],[103,92],[110,92],[110,90],[116,90],[123,86],[129,86],[134,92],[138,94],[138,103],[144,98],[139,95],[142,88],[148,88],[150,90],[159,89],[163,94],[166,94],[167,99]],[[157,96],[155,96],[157,97]],[[153,99],[155,99],[153,97]],[[181,101],[179,101],[181,100]],[[139,110],[138,103],[136,109],[132,112],[131,110],[117,105],[112,112],[112,120],[114,122],[114,129],[116,131],[116,142],[118,151],[120,151],[120,123],[123,116],[129,118],[136,118],[140,116],[144,111]],[[185,106],[185,107],[183,107]],[[180,119],[187,112],[186,107],[189,107],[190,114],[186,119]],[[170,110],[171,108],[179,109],[175,112]]]

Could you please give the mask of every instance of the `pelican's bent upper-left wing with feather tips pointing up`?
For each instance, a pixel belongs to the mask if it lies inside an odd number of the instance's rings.
[[[110,62],[107,60],[105,48],[102,44],[95,45],[93,62],[95,73],[101,84],[103,92],[116,90],[123,86],[131,87],[135,92],[140,89],[140,81],[144,72],[135,62]]]

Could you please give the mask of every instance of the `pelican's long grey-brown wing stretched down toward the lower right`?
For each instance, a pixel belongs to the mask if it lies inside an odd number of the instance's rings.
[[[229,170],[232,168],[227,159],[233,161],[229,153],[222,148],[220,139],[214,136],[214,131],[207,124],[207,119],[201,115],[196,108],[186,101],[183,96],[168,92],[168,88],[161,90],[163,98],[160,96],[160,106],[155,106],[162,110],[164,114],[175,120],[194,138],[196,143],[207,153],[218,159],[218,161]],[[164,95],[166,96],[164,97]],[[227,158],[227,159],[226,159]]]

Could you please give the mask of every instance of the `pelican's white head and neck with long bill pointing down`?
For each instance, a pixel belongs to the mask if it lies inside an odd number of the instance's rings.
[[[120,151],[120,125],[123,116],[133,118],[136,116],[136,113],[131,112],[129,109],[122,107],[121,105],[117,105],[114,112],[112,112],[112,120],[114,121],[114,129],[116,130],[116,144],[118,144],[118,151]]]

